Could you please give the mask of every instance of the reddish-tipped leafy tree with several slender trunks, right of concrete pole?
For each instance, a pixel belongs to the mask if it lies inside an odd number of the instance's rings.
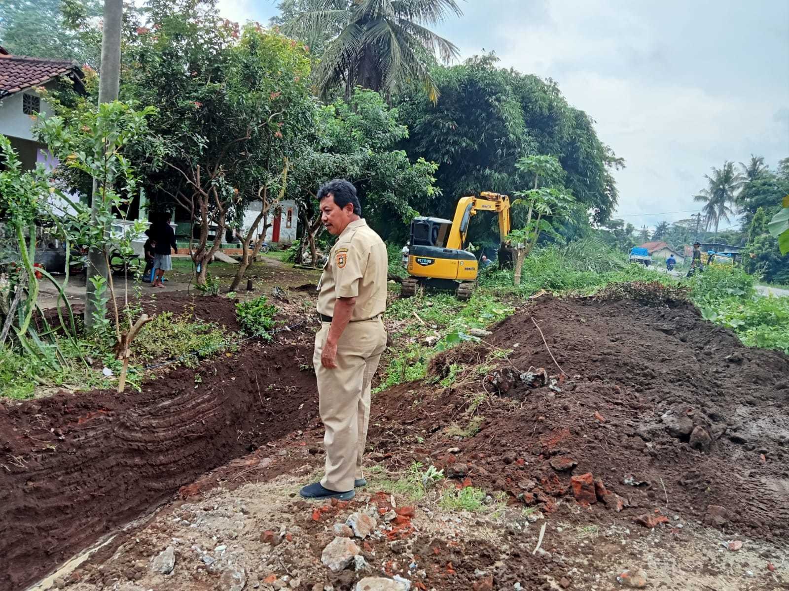
[[[151,126],[166,140],[166,168],[149,172],[148,195],[196,221],[189,250],[204,284],[224,229],[238,229],[249,203],[279,194],[285,158],[312,128],[308,53],[277,32],[222,20],[214,0],[175,9],[151,0],[147,10],[151,27],[127,46],[122,95],[158,108]],[[245,259],[256,236],[241,236]]]

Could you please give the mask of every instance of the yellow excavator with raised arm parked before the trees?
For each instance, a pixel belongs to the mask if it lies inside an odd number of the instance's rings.
[[[402,297],[417,293],[420,286],[451,289],[458,299],[469,299],[477,286],[479,262],[473,253],[464,250],[471,217],[479,211],[499,215],[502,240],[510,233],[510,198],[484,191],[479,197],[462,197],[454,210],[452,221],[440,217],[414,217],[408,274],[402,280]]]

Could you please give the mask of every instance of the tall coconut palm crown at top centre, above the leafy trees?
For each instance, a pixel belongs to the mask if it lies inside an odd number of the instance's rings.
[[[303,0],[307,9],[284,26],[299,39],[315,39],[326,31],[336,36],[326,46],[316,69],[322,95],[342,87],[346,99],[361,86],[391,96],[421,84],[430,99],[439,89],[429,71],[438,57],[448,62],[458,48],[425,25],[448,14],[462,15],[456,0]]]

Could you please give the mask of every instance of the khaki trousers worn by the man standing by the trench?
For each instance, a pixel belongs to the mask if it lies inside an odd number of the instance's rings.
[[[318,378],[320,418],[326,428],[326,475],[320,484],[329,490],[353,490],[353,480],[362,478],[361,458],[365,452],[370,420],[370,383],[378,369],[387,333],[380,318],[349,322],[337,344],[337,367],[320,364],[323,344],[331,322],[323,322],[315,336],[312,364]]]

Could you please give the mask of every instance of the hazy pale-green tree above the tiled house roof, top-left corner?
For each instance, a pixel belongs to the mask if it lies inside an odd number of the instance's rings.
[[[0,2],[0,39],[12,54],[99,65],[99,0]],[[99,44],[95,43],[99,40]]]

